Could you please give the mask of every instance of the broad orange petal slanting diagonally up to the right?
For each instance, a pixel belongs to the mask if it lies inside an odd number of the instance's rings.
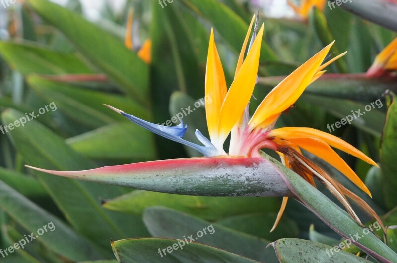
[[[251,129],[257,127],[267,118],[283,112],[298,100],[311,83],[333,43],[297,68],[265,97],[248,124]]]

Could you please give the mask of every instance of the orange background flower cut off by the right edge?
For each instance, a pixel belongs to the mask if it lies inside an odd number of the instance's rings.
[[[397,38],[375,57],[375,61],[366,75],[380,77],[389,74],[390,71],[397,71]]]

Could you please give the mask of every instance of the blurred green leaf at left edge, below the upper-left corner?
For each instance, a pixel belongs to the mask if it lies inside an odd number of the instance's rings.
[[[32,43],[0,42],[0,54],[10,66],[27,74],[90,74],[93,71],[74,53],[61,53]]]

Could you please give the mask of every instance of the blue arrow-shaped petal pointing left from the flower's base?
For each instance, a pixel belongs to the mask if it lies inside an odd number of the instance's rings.
[[[195,143],[191,143],[189,141],[182,139],[181,137],[185,134],[188,128],[188,126],[184,125],[182,121],[177,126],[169,127],[169,126],[154,124],[124,112],[119,112],[119,113],[125,116],[126,118],[128,118],[129,120],[131,120],[132,122],[138,124],[139,126],[142,126],[145,129],[148,129],[151,132],[154,132],[157,135],[163,136],[174,142],[178,142],[186,146],[189,146],[193,149],[196,149],[206,157],[219,155],[218,150],[212,145],[211,142],[208,141],[208,139],[207,141],[210,143],[210,145],[205,143],[206,146],[197,145]],[[204,137],[202,134],[201,136]]]

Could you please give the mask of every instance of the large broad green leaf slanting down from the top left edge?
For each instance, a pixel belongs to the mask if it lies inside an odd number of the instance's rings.
[[[57,4],[47,0],[28,2],[136,102],[146,104],[148,65],[125,48],[122,40]]]

